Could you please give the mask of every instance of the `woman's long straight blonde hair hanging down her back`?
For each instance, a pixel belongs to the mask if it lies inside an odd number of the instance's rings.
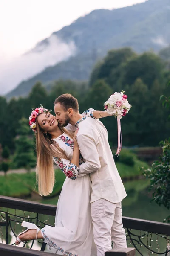
[[[43,113],[43,112],[42,112]],[[41,114],[41,113],[40,113]],[[39,115],[40,115],[39,114]],[[42,131],[36,119],[37,133],[36,149],[37,149],[37,166],[36,166],[36,180],[38,182],[38,192],[40,195],[49,195],[53,191],[55,183],[54,163],[53,157],[68,159],[65,151],[59,147],[55,140],[52,140],[51,134],[47,135]],[[59,129],[73,138],[73,134],[67,131],[58,122]],[[70,160],[69,160],[70,161]]]

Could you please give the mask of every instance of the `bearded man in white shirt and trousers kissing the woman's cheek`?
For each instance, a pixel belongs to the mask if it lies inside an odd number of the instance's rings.
[[[97,256],[104,256],[114,248],[126,248],[125,230],[122,225],[121,201],[126,196],[125,188],[114,163],[105,126],[91,117],[79,114],[77,99],[71,94],[62,94],[54,102],[56,119],[66,126],[79,127],[77,142],[85,163],[79,166],[79,175],[91,177],[91,215]]]

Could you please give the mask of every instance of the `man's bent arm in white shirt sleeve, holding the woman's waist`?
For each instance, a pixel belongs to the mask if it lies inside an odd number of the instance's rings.
[[[95,172],[101,168],[97,142],[91,135],[77,134],[77,142],[85,163],[79,166],[79,176]]]

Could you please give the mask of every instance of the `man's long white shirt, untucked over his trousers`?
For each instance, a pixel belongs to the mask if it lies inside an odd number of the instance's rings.
[[[79,166],[79,176],[90,174],[91,203],[104,198],[119,203],[126,196],[108,142],[108,132],[98,119],[86,118],[79,123],[77,142],[85,163]]]

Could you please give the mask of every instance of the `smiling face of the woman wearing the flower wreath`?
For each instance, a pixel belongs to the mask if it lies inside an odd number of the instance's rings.
[[[58,128],[58,121],[55,116],[49,113],[42,113],[37,116],[37,122],[45,132],[53,132]]]

